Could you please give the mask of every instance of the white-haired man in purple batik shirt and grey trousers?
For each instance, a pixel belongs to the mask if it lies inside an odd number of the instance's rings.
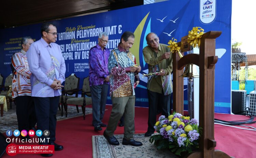
[[[109,90],[108,59],[109,49],[106,48],[109,35],[101,32],[98,44],[89,51],[89,84],[93,103],[93,126],[95,131],[102,130],[107,125],[102,123],[105,112],[106,97]]]

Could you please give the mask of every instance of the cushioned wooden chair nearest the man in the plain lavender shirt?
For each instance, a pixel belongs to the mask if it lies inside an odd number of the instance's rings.
[[[71,74],[70,76],[66,77],[64,90],[62,90],[59,100],[59,103],[61,103],[61,116],[63,116],[63,106],[66,111],[66,117],[68,116],[68,105],[66,104],[66,101],[70,98],[77,98],[79,91],[79,80],[80,78],[75,74]],[[75,96],[72,96],[73,94],[75,94]],[[79,112],[77,105],[76,110]]]

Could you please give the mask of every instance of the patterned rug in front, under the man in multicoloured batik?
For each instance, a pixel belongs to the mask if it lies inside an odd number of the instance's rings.
[[[124,135],[115,135],[120,145],[110,145],[103,136],[93,136],[93,158],[177,158],[169,150],[157,150],[150,137],[144,134],[134,134],[134,140],[143,143],[142,146],[122,145]]]

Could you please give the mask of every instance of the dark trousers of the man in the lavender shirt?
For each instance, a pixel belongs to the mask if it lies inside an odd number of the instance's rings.
[[[49,142],[54,142],[55,138],[55,130],[56,130],[56,113],[58,110],[59,97],[32,97],[35,103],[35,114],[37,116],[37,129],[40,129],[44,132],[44,130],[49,130],[50,135],[45,137],[42,135],[40,138],[50,138]],[[41,142],[41,144],[48,144],[47,139],[45,142]]]

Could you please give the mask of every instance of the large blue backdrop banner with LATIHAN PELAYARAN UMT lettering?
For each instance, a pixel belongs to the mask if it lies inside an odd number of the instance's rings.
[[[75,73],[80,77],[80,87],[89,74],[89,49],[97,44],[99,33],[109,34],[107,48],[112,50],[125,31],[134,32],[134,45],[130,50],[142,67],[141,81],[136,88],[136,106],[142,107],[148,106],[147,77],[142,78],[142,73],[148,72],[142,53],[148,33],[155,32],[160,43],[167,44],[172,37],[180,41],[193,27],[201,27],[204,32],[222,31],[216,39],[215,112],[230,113],[231,6],[231,0],[170,0],[52,22],[59,33],[56,43],[66,62],[66,76]],[[40,29],[41,24],[33,24],[0,30],[0,73],[4,78],[11,73],[11,56],[21,49],[21,38],[31,36],[39,40]],[[184,109],[187,109],[186,84],[184,100]],[[111,104],[110,97],[107,103]]]

